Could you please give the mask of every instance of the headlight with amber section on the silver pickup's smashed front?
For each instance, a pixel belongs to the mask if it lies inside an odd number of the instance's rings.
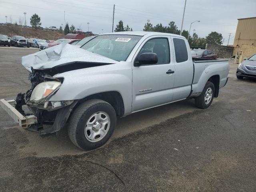
[[[58,90],[58,88],[60,88],[60,85],[61,83],[57,81],[47,81],[38,84],[30,96],[30,101],[39,102],[46,97],[50,97],[56,90]]]

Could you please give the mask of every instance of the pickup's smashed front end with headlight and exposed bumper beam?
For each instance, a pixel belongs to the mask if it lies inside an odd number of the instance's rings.
[[[64,127],[78,101],[49,101],[62,85],[64,78],[54,78],[44,70],[31,70],[31,88],[24,94],[18,94],[16,100],[2,99],[0,104],[26,130],[39,134],[57,132]],[[23,105],[27,105],[32,113],[24,112]]]

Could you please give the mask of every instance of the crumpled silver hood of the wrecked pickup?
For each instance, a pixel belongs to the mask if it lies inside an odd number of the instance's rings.
[[[44,70],[70,62],[117,63],[118,61],[92,53],[82,48],[59,44],[54,47],[22,57],[22,65],[31,72],[33,69]],[[86,64],[85,64],[86,65]]]

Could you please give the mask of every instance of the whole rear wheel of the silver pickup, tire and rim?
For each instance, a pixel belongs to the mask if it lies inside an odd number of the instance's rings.
[[[204,90],[200,96],[195,98],[195,104],[198,108],[206,109],[212,104],[214,98],[215,87],[214,84],[210,81],[204,86]]]

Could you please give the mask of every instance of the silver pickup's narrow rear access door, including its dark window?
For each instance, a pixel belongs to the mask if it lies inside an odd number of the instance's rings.
[[[190,46],[185,38],[172,37],[174,46],[175,82],[173,100],[187,98],[191,91],[194,66],[190,53]]]

